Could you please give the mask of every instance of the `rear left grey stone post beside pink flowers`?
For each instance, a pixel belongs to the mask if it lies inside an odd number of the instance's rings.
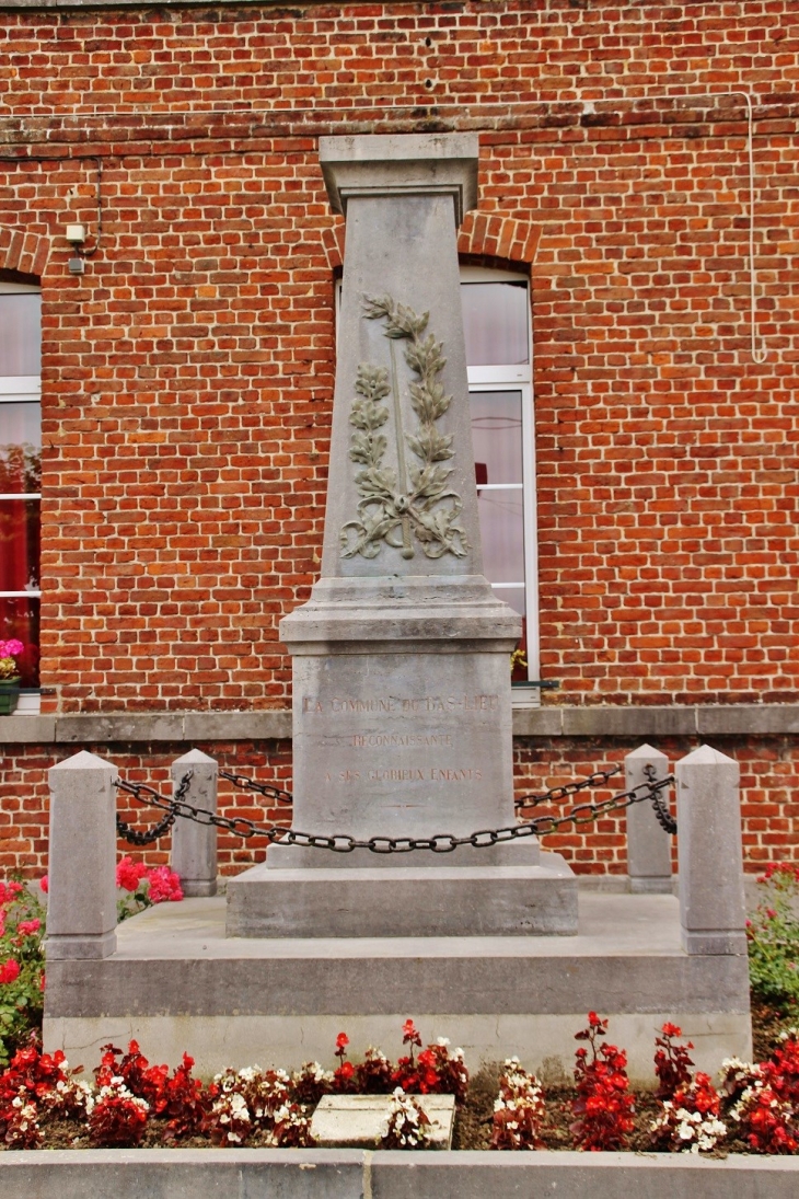
[[[214,758],[201,749],[189,749],[172,763],[172,794],[186,771],[192,771],[186,799],[198,808],[217,811],[217,777]],[[172,825],[172,869],[180,875],[183,894],[216,896],[217,893],[217,830],[180,817]]]

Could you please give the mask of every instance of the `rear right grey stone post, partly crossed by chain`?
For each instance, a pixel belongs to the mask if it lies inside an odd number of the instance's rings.
[[[668,775],[668,758],[652,746],[641,746],[624,759],[625,790],[648,783],[647,766],[654,766],[654,781]],[[665,793],[661,793],[665,799]],[[652,803],[634,803],[627,809],[627,873],[634,894],[671,894],[671,837],[658,824]]]

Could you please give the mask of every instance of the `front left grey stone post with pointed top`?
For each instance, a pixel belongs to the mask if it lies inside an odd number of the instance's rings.
[[[53,766],[48,959],[116,950],[116,767],[93,753]]]

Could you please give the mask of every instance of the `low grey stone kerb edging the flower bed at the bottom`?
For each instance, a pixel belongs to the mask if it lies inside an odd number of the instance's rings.
[[[795,1199],[799,1158],[359,1150],[0,1153],[2,1199]]]

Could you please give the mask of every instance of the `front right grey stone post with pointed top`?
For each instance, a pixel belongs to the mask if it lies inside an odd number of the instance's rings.
[[[700,746],[677,763],[679,915],[686,953],[746,953],[740,769]]]

